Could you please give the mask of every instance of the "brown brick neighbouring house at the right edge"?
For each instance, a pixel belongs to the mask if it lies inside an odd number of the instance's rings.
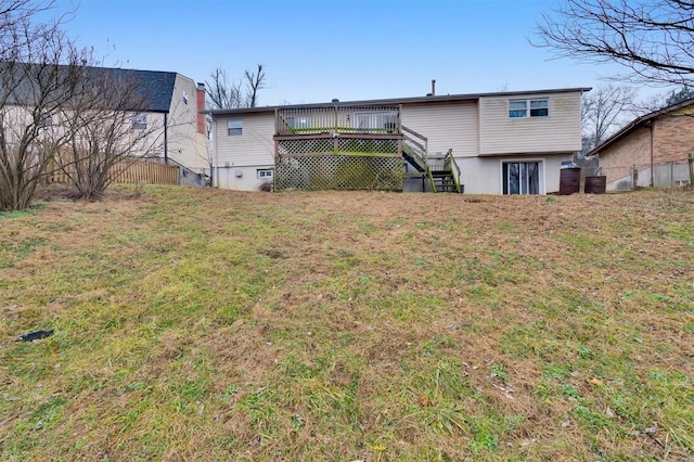
[[[588,153],[595,155],[608,191],[687,184],[687,159],[694,156],[694,100],[637,118]]]

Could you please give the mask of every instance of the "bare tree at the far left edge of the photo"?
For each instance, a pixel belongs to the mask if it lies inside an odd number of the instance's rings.
[[[46,3],[0,3],[0,210],[26,208],[68,134],[56,111],[79,91],[86,50],[60,20],[34,24]],[[49,4],[50,5],[50,4]]]

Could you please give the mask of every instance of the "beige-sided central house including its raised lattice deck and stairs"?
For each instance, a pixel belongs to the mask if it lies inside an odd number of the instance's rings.
[[[558,191],[590,88],[213,111],[215,182],[257,190]]]

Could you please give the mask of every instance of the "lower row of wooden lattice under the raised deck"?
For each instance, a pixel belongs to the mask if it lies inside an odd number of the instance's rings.
[[[402,191],[402,158],[349,155],[278,157],[275,190]]]

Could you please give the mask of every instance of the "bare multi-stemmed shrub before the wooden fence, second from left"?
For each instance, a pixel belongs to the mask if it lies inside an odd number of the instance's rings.
[[[162,120],[146,114],[145,94],[134,74],[89,67],[83,91],[62,106],[68,143],[55,163],[78,197],[99,201],[106,188],[162,137]],[[150,117],[147,117],[150,116]]]

